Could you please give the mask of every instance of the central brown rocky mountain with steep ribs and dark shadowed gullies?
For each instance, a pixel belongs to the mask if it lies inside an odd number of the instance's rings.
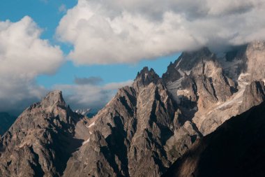
[[[90,136],[64,176],[160,176],[200,136],[192,122],[186,129],[181,119],[160,78],[144,68],[132,87],[121,88],[87,125]],[[165,144],[179,127],[185,140],[176,141],[183,149],[170,152]]]

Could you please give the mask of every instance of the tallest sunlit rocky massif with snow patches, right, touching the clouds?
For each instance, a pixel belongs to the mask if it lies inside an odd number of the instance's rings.
[[[162,76],[166,87],[182,112],[187,112],[187,106],[188,112],[196,110],[190,119],[199,132],[209,134],[225,120],[263,100],[263,92],[255,94],[251,85],[265,78],[264,46],[263,42],[253,42],[218,55],[202,48],[184,52],[169,65],[170,69]],[[176,73],[180,74],[177,79]],[[246,101],[243,92],[248,92],[245,95],[252,101]],[[248,105],[242,106],[244,103]]]

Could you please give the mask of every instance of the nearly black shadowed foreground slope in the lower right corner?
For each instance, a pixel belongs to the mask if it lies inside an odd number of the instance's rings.
[[[265,176],[265,102],[197,141],[164,177]]]

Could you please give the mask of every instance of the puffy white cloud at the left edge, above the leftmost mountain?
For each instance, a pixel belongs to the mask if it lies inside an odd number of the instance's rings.
[[[39,74],[54,73],[63,62],[59,46],[40,38],[42,30],[31,17],[0,21],[0,111],[18,111],[40,99]]]

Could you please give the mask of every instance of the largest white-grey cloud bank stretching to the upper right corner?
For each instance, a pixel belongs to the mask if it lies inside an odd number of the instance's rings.
[[[79,0],[56,30],[76,64],[133,63],[265,39],[264,0]]]

